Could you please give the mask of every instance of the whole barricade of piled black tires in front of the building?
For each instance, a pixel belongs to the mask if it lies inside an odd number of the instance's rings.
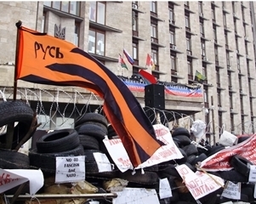
[[[45,180],[54,178],[56,173],[56,157],[57,156],[85,156],[85,173],[86,181],[98,188],[99,193],[107,192],[105,182],[112,178],[122,178],[128,181],[126,187],[155,189],[159,198],[159,203],[174,204],[190,204],[190,203],[207,203],[217,204],[232,201],[243,201],[245,203],[253,203],[254,184],[248,183],[248,174],[250,171],[251,161],[242,156],[232,156],[230,165],[233,167],[230,171],[211,172],[213,175],[219,176],[233,183],[242,183],[241,199],[231,200],[222,195],[223,188],[215,190],[212,193],[203,196],[195,201],[190,191],[186,188],[183,179],[176,170],[177,165],[185,164],[193,172],[196,172],[196,165],[212,156],[213,154],[224,150],[225,146],[205,144],[205,149],[196,147],[191,144],[191,134],[184,127],[177,127],[172,133],[174,144],[184,156],[181,159],[165,161],[158,165],[145,167],[143,170],[137,170],[133,174],[132,170],[124,173],[119,171],[108,151],[105,148],[103,139],[108,135],[109,139],[118,138],[117,133],[108,122],[105,116],[98,113],[86,113],[75,120],[75,127],[72,129],[61,129],[51,133],[46,133],[37,140],[37,148],[29,150],[28,155],[14,150],[17,143],[30,127],[33,111],[31,108],[21,101],[3,102],[0,104],[0,128],[11,122],[19,122],[14,128],[14,140],[12,150],[0,150],[0,167],[3,169],[38,169],[43,172]],[[1,133],[1,132],[0,132]],[[31,134],[32,137],[32,134]],[[5,134],[0,135],[1,144],[5,143]],[[238,139],[238,143],[244,139]],[[109,172],[99,172],[97,162],[94,159],[94,153],[104,153],[112,164],[112,170]],[[118,152],[117,152],[118,154]],[[159,179],[168,178],[169,185],[172,189],[172,197],[160,199],[159,196]],[[67,184],[67,186],[70,186]],[[38,193],[45,193],[45,186]],[[16,188],[8,190],[6,194],[13,194]],[[23,189],[22,194],[28,193],[29,188]],[[94,200],[100,204],[110,203],[108,200]],[[89,201],[84,202],[89,203]]]

